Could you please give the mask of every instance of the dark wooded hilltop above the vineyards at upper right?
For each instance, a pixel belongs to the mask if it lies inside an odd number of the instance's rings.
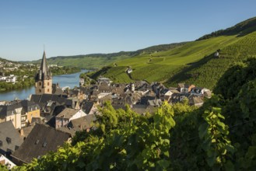
[[[212,37],[219,37],[219,36],[231,36],[231,35],[244,36],[248,33],[254,32],[255,30],[256,30],[256,17],[253,17],[251,19],[247,19],[241,23],[238,23],[235,26],[231,26],[225,30],[218,30],[210,34],[206,34],[205,36],[200,37],[198,40],[205,40],[205,39],[209,39]]]

